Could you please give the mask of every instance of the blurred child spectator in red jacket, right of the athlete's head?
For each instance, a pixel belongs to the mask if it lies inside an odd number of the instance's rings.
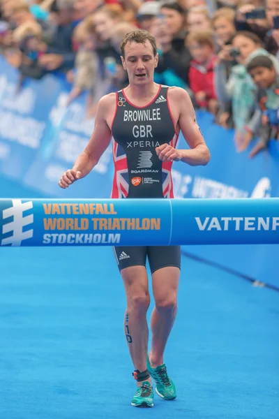
[[[216,114],[218,103],[214,88],[214,54],[213,33],[211,31],[195,31],[186,39],[193,57],[190,62],[189,86],[193,91],[195,102],[200,108]]]

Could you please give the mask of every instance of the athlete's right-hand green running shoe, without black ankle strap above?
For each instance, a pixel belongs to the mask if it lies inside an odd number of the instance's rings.
[[[149,370],[149,374],[153,380],[156,382],[155,391],[158,396],[165,400],[175,399],[176,388],[172,379],[167,375],[167,368],[165,364],[152,368],[149,362],[149,357],[147,357],[147,369]]]

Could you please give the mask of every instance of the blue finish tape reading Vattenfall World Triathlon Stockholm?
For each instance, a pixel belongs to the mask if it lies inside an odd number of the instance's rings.
[[[278,244],[279,199],[0,199],[1,246]]]

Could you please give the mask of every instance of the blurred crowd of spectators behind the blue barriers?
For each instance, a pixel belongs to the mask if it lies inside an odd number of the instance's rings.
[[[250,156],[278,139],[279,0],[0,0],[0,50],[24,78],[64,73],[68,103],[128,84],[120,41],[146,29],[156,37],[155,81],[187,89],[196,109],[234,128]]]

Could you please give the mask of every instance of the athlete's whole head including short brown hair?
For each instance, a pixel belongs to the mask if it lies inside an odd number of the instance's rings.
[[[121,60],[130,82],[145,84],[153,81],[158,65],[156,40],[144,30],[128,32],[121,42]]]

